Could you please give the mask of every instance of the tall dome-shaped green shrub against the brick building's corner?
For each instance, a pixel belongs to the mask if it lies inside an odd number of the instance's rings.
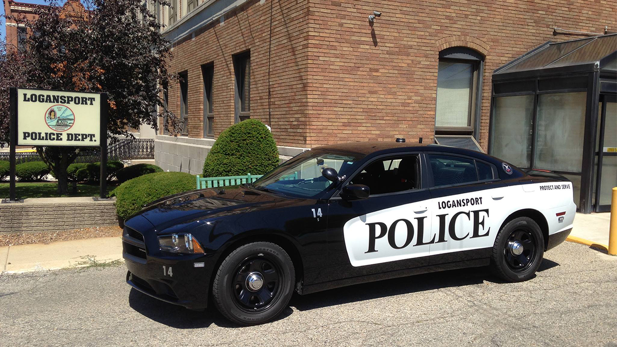
[[[256,119],[228,128],[205,157],[204,177],[262,175],[279,163],[278,149],[270,130]]]

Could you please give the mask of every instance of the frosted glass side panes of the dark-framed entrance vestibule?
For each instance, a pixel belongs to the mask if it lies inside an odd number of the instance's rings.
[[[495,96],[491,155],[523,169],[564,175],[578,203],[586,102],[584,91]]]

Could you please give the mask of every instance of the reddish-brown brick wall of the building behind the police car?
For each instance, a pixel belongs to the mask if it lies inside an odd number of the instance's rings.
[[[272,7],[270,7],[272,6]],[[214,62],[215,136],[234,121],[231,56],[251,50],[251,117],[279,145],[434,135],[439,51],[466,46],[486,56],[480,143],[487,148],[491,74],[545,41],[553,27],[602,33],[617,27],[611,1],[248,1],[173,46],[172,70],[188,70],[189,137],[202,137],[201,64]],[[371,27],[368,15],[383,13]],[[170,86],[179,113],[179,91]]]

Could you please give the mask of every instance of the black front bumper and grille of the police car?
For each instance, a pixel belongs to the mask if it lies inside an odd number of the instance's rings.
[[[146,233],[148,235],[148,233]],[[208,306],[212,256],[209,254],[172,254],[160,251],[157,236],[143,235],[125,226],[122,256],[128,272],[126,283],[153,298],[187,307]],[[204,263],[202,267],[196,264]]]

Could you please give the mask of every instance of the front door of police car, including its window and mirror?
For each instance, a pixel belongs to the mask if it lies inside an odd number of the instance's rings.
[[[327,280],[428,264],[429,245],[422,240],[431,212],[423,166],[418,153],[376,157],[344,183],[368,186],[368,198],[330,199]]]

